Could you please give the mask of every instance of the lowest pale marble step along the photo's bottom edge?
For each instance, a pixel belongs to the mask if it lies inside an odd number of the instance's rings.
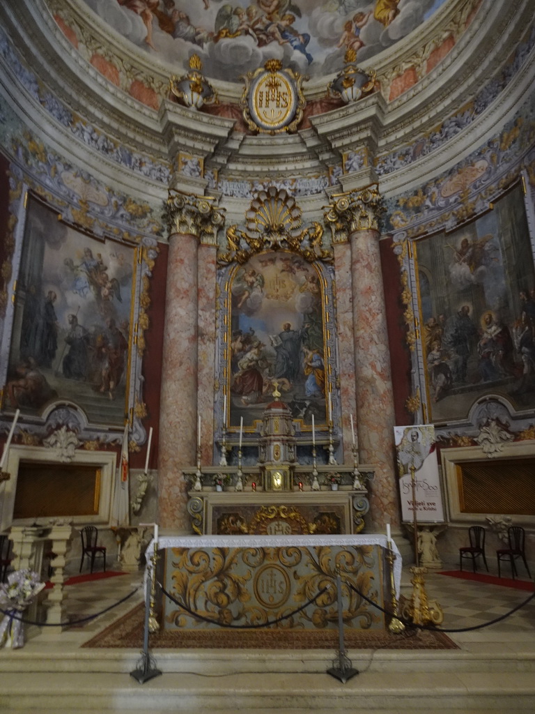
[[[112,673],[5,673],[0,687],[3,714],[521,714],[534,706],[535,678],[526,672],[368,671],[345,684],[317,673],[167,673],[143,685]]]

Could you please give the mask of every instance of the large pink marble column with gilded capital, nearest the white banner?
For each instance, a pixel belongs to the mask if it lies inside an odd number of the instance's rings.
[[[342,232],[333,231],[334,241],[341,242],[345,238],[350,243],[359,461],[375,466],[375,478],[370,486],[373,531],[384,531],[386,523],[399,526],[394,401],[379,256],[381,211],[377,186],[350,192],[330,211],[331,216],[337,217],[337,228],[344,226]]]

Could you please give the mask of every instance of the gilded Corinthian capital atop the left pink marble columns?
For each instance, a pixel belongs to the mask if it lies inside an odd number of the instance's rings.
[[[225,225],[224,208],[178,191],[170,191],[165,208],[169,235],[197,236],[201,243],[217,245],[218,231]]]

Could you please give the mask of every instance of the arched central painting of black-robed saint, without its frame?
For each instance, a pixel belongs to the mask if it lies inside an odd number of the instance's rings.
[[[324,423],[325,341],[322,283],[297,253],[260,253],[235,271],[230,287],[228,426],[253,426],[282,400],[309,427]]]

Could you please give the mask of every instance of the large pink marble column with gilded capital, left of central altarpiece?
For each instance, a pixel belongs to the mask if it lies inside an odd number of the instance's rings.
[[[168,214],[171,228],[165,295],[157,520],[165,531],[180,534],[190,532],[183,469],[195,465],[197,460],[198,415],[201,426],[204,423],[203,441],[206,442],[213,419],[213,410],[209,418],[206,416],[207,405],[208,408],[212,405],[210,398],[203,399],[205,408],[202,411],[198,399],[200,384],[203,394],[208,390],[205,365],[210,362],[205,354],[210,352],[210,346],[204,338],[199,342],[199,324],[203,331],[200,309],[203,307],[205,313],[206,295],[210,294],[210,288],[205,285],[210,270],[205,263],[213,265],[215,282],[215,238],[224,218],[208,201],[182,193],[170,196]],[[200,248],[200,243],[213,246],[211,261],[207,260],[207,251]],[[213,289],[215,291],[215,286]],[[210,312],[213,313],[213,305]],[[213,357],[211,359],[213,363]],[[200,368],[200,361],[203,368]],[[209,391],[213,395],[213,371]]]

